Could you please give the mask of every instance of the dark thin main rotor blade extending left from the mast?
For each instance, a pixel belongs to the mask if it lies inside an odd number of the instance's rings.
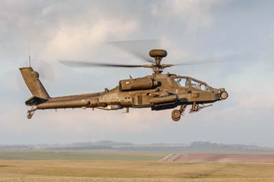
[[[140,68],[143,67],[142,65],[131,65],[131,64],[109,64],[109,63],[95,63],[95,62],[76,62],[76,61],[67,61],[67,60],[60,60],[61,64],[70,67],[121,67],[121,68]]]

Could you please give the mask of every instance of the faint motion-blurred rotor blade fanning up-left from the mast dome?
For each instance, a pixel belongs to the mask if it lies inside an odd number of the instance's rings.
[[[108,44],[112,44],[127,53],[139,57],[142,61],[149,63],[155,63],[155,60],[149,57],[149,51],[151,49],[160,48],[159,40],[126,40],[119,42],[108,42]]]

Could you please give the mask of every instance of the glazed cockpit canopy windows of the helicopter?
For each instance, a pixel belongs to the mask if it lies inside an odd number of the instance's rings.
[[[184,88],[197,88],[199,90],[203,91],[209,91],[210,87],[208,86],[207,83],[200,81],[198,79],[194,79],[192,77],[175,77],[175,82],[179,87],[184,87]]]

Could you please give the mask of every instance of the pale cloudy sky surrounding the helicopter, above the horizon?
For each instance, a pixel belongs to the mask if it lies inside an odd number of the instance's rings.
[[[0,1],[0,144],[114,140],[274,146],[274,1]],[[69,68],[58,60],[143,64],[108,42],[158,40],[163,63],[226,55],[247,62],[178,66],[165,71],[225,88],[228,99],[179,122],[172,109],[58,109],[37,111],[18,68],[32,66],[50,96],[100,92],[119,80],[151,74],[145,68]],[[28,49],[29,47],[29,49]],[[142,49],[148,49],[143,43]],[[221,59],[221,58],[220,58]]]

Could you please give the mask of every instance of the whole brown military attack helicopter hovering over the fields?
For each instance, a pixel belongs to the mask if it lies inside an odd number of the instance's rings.
[[[160,111],[173,109],[171,118],[174,121],[184,116],[186,107],[190,105],[190,113],[199,112],[205,107],[212,106],[216,101],[227,99],[225,88],[213,88],[208,83],[188,76],[163,73],[164,68],[183,64],[162,64],[167,51],[152,49],[149,51],[153,60],[150,64],[105,64],[92,62],[60,61],[66,66],[111,66],[123,68],[151,68],[153,73],[145,77],[122,79],[119,85],[103,92],[76,94],[70,96],[51,97],[39,79],[39,73],[31,66],[19,68],[23,79],[32,93],[32,97],[25,101],[25,105],[32,108],[27,111],[27,118],[32,118],[38,109],[66,109],[66,108],[92,108],[92,109],[123,109],[129,112],[131,108],[150,107],[151,110]],[[176,109],[176,107],[179,107]]]

